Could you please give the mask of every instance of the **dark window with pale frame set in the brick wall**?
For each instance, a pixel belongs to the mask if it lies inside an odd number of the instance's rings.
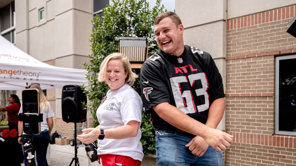
[[[296,55],[276,57],[275,134],[296,136]]]

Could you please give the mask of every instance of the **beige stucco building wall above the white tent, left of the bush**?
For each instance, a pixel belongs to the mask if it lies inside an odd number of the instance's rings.
[[[15,0],[15,11],[18,48],[58,67],[84,69],[90,63],[92,0]],[[55,90],[56,118],[62,118],[61,88]]]

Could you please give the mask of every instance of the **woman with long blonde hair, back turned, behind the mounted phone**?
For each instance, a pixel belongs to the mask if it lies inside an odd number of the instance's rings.
[[[32,141],[31,141],[33,146],[32,154],[34,154],[36,151],[36,159],[37,159],[38,166],[47,166],[46,152],[47,152],[47,147],[49,145],[50,133],[52,131],[52,127],[54,124],[52,120],[54,113],[52,111],[52,108],[49,102],[46,100],[46,97],[42,92],[42,89],[40,88],[40,86],[37,84],[33,84],[30,86],[30,89],[39,90],[40,113],[43,113],[43,121],[40,123],[41,133],[38,135],[34,135],[32,137]],[[20,113],[22,113],[22,107],[20,108]],[[23,133],[23,122],[19,121],[18,126],[19,126],[18,128],[19,133]],[[26,143],[25,138],[27,138],[27,136],[19,135],[19,137],[20,138],[18,139],[18,142],[20,144],[25,144]],[[25,153],[24,155],[25,166],[28,166],[27,156],[28,156],[27,153]]]

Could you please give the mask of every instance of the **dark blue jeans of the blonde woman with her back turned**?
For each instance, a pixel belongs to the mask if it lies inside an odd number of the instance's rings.
[[[27,141],[25,141],[25,137],[22,137],[22,144],[24,145]],[[47,152],[47,147],[49,144],[49,131],[41,131],[39,135],[34,135],[33,140],[31,141],[32,146],[33,146],[33,152],[32,154],[35,155],[36,151],[36,160],[38,163],[38,166],[47,166],[47,161],[46,161],[46,152]],[[28,161],[27,161],[27,153],[24,154],[24,160],[25,160],[25,166],[28,166]],[[36,164],[37,164],[36,163]]]

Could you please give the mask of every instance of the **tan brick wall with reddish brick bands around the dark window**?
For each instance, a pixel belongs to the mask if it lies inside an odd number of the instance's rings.
[[[296,5],[227,21],[226,165],[296,165],[296,137],[274,135],[275,56],[296,53]]]

